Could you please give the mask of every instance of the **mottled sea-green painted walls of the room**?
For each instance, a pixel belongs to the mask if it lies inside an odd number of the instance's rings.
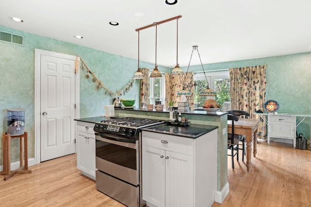
[[[0,30],[24,35],[23,46],[16,46],[0,42],[0,133],[6,129],[6,109],[25,109],[25,131],[29,136],[29,158],[35,156],[35,48],[80,56],[96,73],[99,80],[111,91],[123,89],[132,79],[137,70],[137,60],[114,55],[104,51],[86,48],[48,37],[28,32],[13,30],[0,26]],[[206,64],[206,71],[267,64],[267,91],[266,98],[274,99],[280,104],[280,112],[311,113],[311,53],[300,53],[285,56],[258,58],[243,61],[234,61],[217,64]],[[139,63],[140,67],[154,68],[154,64]],[[200,71],[201,65],[191,66],[190,71]],[[183,68],[185,71],[185,68]],[[187,68],[186,68],[187,69]],[[162,72],[169,68],[159,66]],[[104,105],[112,104],[113,97],[104,95],[104,90],[96,91],[95,85],[86,79],[85,73],[80,71],[80,117],[91,117],[103,114]],[[122,98],[139,96],[138,82]],[[137,103],[136,103],[137,105]],[[137,105],[138,106],[138,105]],[[310,137],[311,119],[297,127]],[[2,143],[2,142],[1,142]],[[16,148],[16,149],[13,149]],[[12,151],[18,149],[17,140],[12,142]],[[0,153],[2,152],[2,147]],[[12,161],[18,160],[18,155]]]

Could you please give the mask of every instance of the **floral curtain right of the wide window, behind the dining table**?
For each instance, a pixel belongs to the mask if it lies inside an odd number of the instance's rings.
[[[247,111],[250,118],[260,119],[255,110],[263,110],[266,95],[266,67],[257,65],[229,68],[231,109]],[[267,139],[267,126],[260,119],[258,138]]]

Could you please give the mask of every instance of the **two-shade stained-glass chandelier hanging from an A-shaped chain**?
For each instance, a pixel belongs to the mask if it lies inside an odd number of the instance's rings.
[[[192,46],[192,52],[191,52],[190,61],[189,61],[189,64],[188,64],[188,68],[187,68],[187,72],[186,72],[186,76],[185,76],[185,80],[184,80],[184,84],[183,84],[183,89],[181,91],[179,91],[176,96],[182,96],[182,95],[184,95],[184,96],[191,96],[190,92],[187,91],[186,89],[188,89],[188,88],[191,89],[193,86],[196,87],[197,85],[204,86],[204,84],[202,82],[200,82],[200,81],[199,81],[198,84],[196,82],[194,82],[194,84],[192,82],[188,83],[187,85],[185,84],[185,81],[186,81],[186,78],[187,78],[187,74],[188,74],[188,70],[189,70],[189,66],[190,66],[190,62],[191,62],[191,58],[192,58],[192,54],[193,54],[193,50],[197,50],[197,52],[198,52],[199,59],[200,59],[200,62],[201,62],[201,66],[202,66],[202,69],[203,69],[203,73],[204,73],[204,76],[205,76],[205,79],[206,79],[206,82],[207,82],[207,86],[205,86],[205,89],[203,91],[201,91],[200,96],[216,96],[216,93],[209,88],[209,83],[207,81],[205,70],[204,70],[204,67],[203,67],[203,64],[202,64],[202,61],[201,61],[201,56],[200,56],[200,53],[199,53],[198,46]]]

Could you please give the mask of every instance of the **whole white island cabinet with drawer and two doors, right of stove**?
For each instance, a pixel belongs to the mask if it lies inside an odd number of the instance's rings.
[[[217,191],[217,130],[196,139],[142,131],[142,199],[149,207],[210,207]]]

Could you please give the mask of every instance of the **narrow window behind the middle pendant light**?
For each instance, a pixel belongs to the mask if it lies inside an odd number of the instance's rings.
[[[161,101],[164,104],[165,100],[165,78],[149,78],[149,101],[150,104],[155,104],[155,101]]]

